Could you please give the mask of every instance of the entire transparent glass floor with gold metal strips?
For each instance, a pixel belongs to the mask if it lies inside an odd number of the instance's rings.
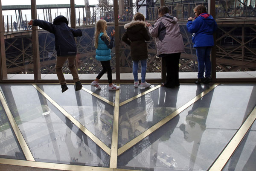
[[[0,84],[0,164],[70,171],[253,171],[256,84],[101,90]]]

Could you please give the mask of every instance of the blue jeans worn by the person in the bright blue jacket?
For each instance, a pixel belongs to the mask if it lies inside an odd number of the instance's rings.
[[[204,78],[204,67],[205,77],[207,78],[211,76],[211,49],[212,47],[196,47],[196,55],[198,57],[198,78]]]

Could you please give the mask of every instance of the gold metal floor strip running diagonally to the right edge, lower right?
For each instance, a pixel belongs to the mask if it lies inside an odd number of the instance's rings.
[[[256,107],[253,109],[252,113],[250,113],[250,115],[247,117],[245,122],[241,125],[241,127],[233,136],[233,138],[228,143],[226,148],[224,148],[218,159],[215,160],[214,164],[209,169],[209,171],[221,171],[223,169],[223,167],[226,165],[232,154],[235,152],[240,142],[244,139],[244,136],[246,135],[247,131],[249,131],[255,119]]]

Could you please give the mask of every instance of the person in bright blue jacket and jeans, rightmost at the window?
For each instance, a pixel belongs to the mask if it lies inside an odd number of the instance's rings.
[[[213,17],[207,13],[205,6],[196,6],[194,14],[194,21],[192,21],[192,17],[188,18],[187,30],[193,33],[192,42],[194,43],[198,58],[198,80],[195,81],[195,84],[208,84],[212,81],[210,53],[212,46],[214,46],[213,32],[217,29],[217,23]]]

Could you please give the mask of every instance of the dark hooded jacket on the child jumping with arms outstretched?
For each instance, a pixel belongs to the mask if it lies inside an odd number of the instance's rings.
[[[53,20],[53,24],[44,20],[34,20],[34,26],[55,35],[55,50],[58,56],[76,55],[76,41],[74,37],[82,35],[81,29],[72,29],[68,26],[67,18],[60,15]]]

